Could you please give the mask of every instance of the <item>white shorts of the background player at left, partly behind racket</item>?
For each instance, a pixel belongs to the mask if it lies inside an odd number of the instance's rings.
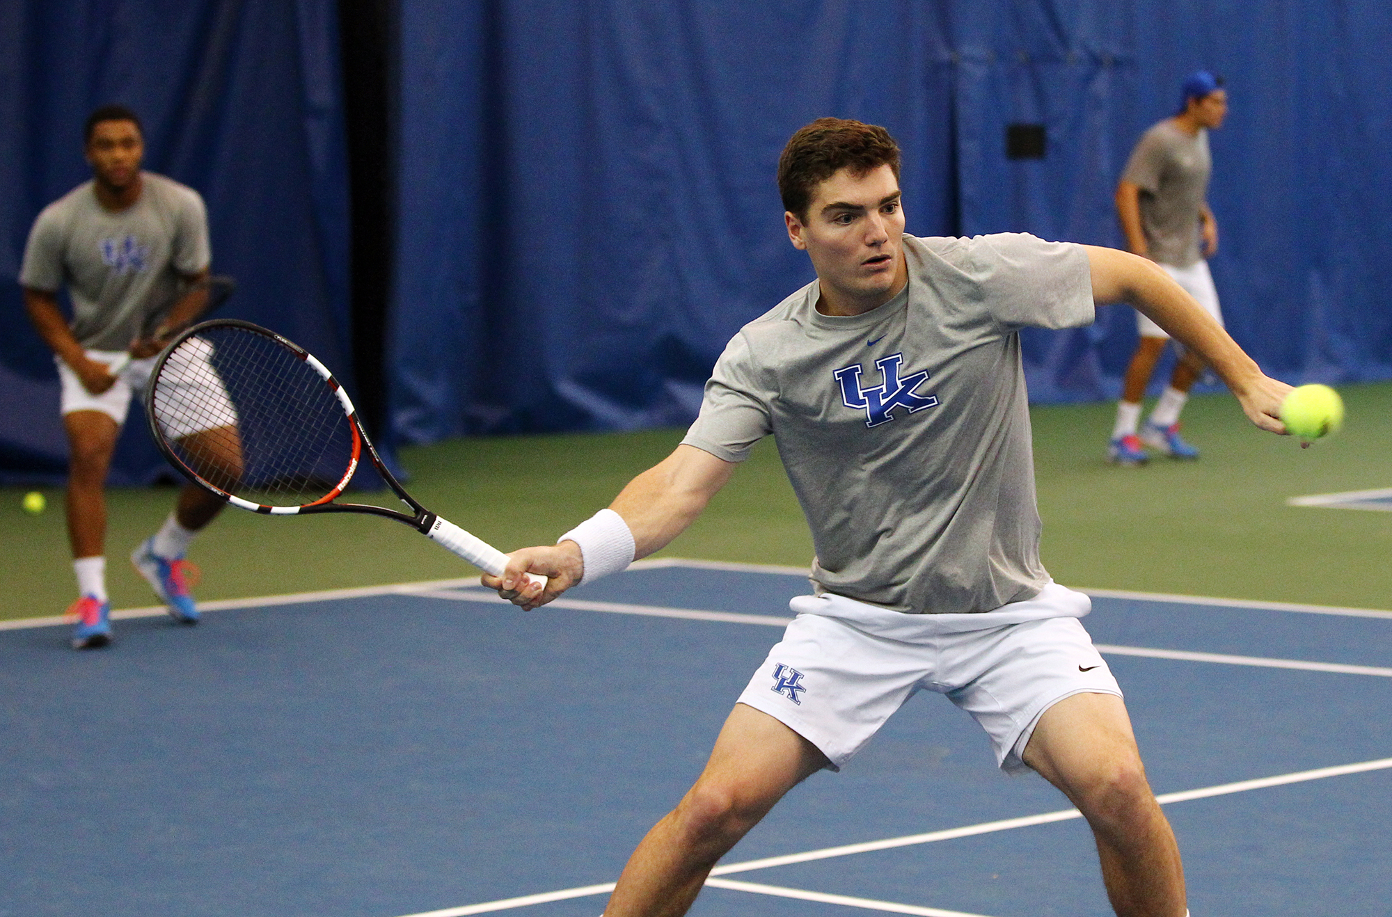
[[[89,359],[106,363],[107,366],[125,355],[124,351],[85,352]],[[209,359],[213,355],[213,348],[210,345],[205,345],[200,349],[185,348],[181,352],[189,353],[188,359],[191,367],[195,370],[193,373],[189,373],[188,377],[212,380],[196,383],[199,387],[206,390],[200,394],[200,401],[209,408],[200,412],[198,417],[192,415],[173,417],[171,423],[167,424],[168,429],[166,430],[166,434],[173,440],[180,440],[203,430],[237,426],[237,409],[232,406],[232,401],[227,395],[227,388],[223,385],[217,373],[213,372],[213,367],[209,363]],[[145,385],[150,381],[150,372],[155,369],[153,356],[143,360],[131,360],[131,363],[121,370],[120,376],[117,376],[114,385],[107,388],[100,395],[93,395],[84,388],[82,380],[78,378],[78,374],[72,372],[71,366],[64,363],[57,356],[53,358],[53,362],[58,366],[58,380],[63,385],[58,410],[64,415],[72,413],[74,410],[100,410],[106,416],[116,420],[117,426],[125,423],[125,417],[131,410],[131,399],[136,392],[145,391]],[[180,373],[180,376],[184,376],[184,373]]]

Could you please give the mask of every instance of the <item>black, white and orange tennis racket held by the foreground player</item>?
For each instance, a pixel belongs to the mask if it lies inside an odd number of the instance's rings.
[[[503,575],[507,555],[412,498],[377,455],[342,385],[274,331],[217,319],[181,333],[155,362],[145,413],[174,468],[234,507],[273,516],[387,516]],[[363,452],[408,512],[337,501]]]

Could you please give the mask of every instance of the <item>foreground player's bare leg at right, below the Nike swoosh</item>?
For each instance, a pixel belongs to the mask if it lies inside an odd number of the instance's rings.
[[[1119,917],[1185,917],[1179,847],[1146,781],[1121,697],[1073,694],[1054,704],[1023,757],[1087,818]]]

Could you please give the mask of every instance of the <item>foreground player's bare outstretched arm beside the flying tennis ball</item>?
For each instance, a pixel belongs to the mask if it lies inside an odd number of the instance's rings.
[[[1093,299],[1125,302],[1193,351],[1226,383],[1247,417],[1271,433],[1285,433],[1281,401],[1290,385],[1270,378],[1222,326],[1169,274],[1144,257],[1084,245],[1093,270]]]

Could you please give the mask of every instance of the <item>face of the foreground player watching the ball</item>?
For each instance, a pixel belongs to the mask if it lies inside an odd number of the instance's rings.
[[[888,299],[903,260],[899,181],[888,166],[838,170],[813,189],[807,221],[785,213],[788,238],[812,257],[823,289],[860,306]],[[877,302],[878,301],[878,302]]]

